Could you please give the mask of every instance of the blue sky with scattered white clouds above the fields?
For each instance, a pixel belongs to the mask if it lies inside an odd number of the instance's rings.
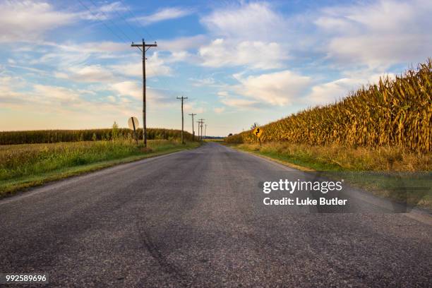
[[[227,136],[394,78],[432,54],[432,1],[0,0],[0,131],[205,119]]]

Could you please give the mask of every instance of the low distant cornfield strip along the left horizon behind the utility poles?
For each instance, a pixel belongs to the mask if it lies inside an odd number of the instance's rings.
[[[138,139],[143,139],[143,129],[137,129]],[[148,128],[149,140],[171,140],[181,137],[180,130]],[[88,130],[37,130],[37,131],[4,131],[0,132],[0,145],[78,142],[92,140],[112,140],[112,138],[132,138],[133,131],[127,128],[107,128]],[[192,140],[192,134],[184,132],[186,140]]]

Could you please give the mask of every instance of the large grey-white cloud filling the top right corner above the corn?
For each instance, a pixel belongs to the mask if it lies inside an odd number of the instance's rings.
[[[431,1],[380,0],[325,8],[315,23],[330,59],[385,68],[431,56],[431,13]]]

